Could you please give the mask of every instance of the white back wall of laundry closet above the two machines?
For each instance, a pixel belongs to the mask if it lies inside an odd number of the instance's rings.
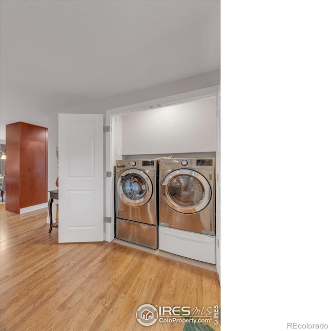
[[[122,116],[122,154],[216,151],[216,98]]]

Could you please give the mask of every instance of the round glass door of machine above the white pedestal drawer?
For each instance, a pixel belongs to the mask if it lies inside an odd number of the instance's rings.
[[[162,182],[162,197],[175,211],[194,214],[210,202],[212,191],[207,179],[197,171],[178,169],[170,172]]]

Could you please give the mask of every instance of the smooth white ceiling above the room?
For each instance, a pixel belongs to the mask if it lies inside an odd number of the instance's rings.
[[[7,123],[220,68],[219,0],[1,0]]]

